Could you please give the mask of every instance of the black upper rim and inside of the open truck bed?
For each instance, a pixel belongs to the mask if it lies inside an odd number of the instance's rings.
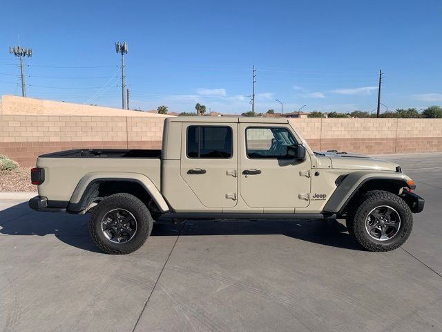
[[[74,149],[44,154],[39,158],[161,158],[161,150]]]

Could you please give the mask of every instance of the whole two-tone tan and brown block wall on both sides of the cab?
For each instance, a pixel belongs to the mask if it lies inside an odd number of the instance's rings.
[[[4,104],[2,105],[4,106]],[[442,119],[291,119],[317,151],[362,154],[442,151]],[[23,166],[64,149],[160,149],[164,117],[0,113],[0,154]]]

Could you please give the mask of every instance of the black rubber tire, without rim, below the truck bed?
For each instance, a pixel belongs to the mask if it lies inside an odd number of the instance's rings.
[[[102,220],[111,210],[124,209],[135,216],[137,230],[133,238],[124,243],[113,243],[102,231]],[[89,234],[98,248],[107,254],[130,254],[139,249],[152,232],[153,219],[146,205],[131,194],[113,194],[101,201],[93,210],[89,221]]]

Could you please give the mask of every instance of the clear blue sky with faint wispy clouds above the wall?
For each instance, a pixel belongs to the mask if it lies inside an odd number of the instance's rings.
[[[2,2],[0,93],[121,107],[126,40],[131,109],[372,111],[378,71],[389,109],[442,104],[442,1]],[[81,67],[81,68],[79,68]],[[86,68],[85,68],[86,67]],[[385,107],[383,108],[385,110]]]

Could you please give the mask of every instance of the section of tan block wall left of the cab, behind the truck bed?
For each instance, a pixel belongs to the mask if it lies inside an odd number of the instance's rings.
[[[0,114],[0,154],[33,166],[37,156],[67,149],[160,149],[163,122],[157,117]]]

